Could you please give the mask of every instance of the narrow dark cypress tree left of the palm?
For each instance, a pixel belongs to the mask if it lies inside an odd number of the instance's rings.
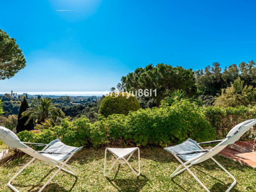
[[[18,124],[16,127],[17,133],[21,132],[22,130],[32,130],[34,129],[33,120],[30,120],[29,123],[25,126],[25,122],[29,119],[29,117],[25,116],[22,117],[22,112],[27,111],[29,108],[29,104],[27,103],[27,99],[23,99],[21,103],[21,107],[19,108],[19,115],[18,115]]]

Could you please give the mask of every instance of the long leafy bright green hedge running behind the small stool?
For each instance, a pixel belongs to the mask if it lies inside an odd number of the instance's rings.
[[[216,138],[215,130],[204,115],[204,109],[189,101],[177,102],[172,106],[139,109],[124,114],[113,114],[105,118],[99,115],[94,124],[81,117],[73,122],[64,119],[60,126],[52,130],[20,132],[18,137],[24,142],[45,142],[62,139],[73,146],[104,144],[160,145],[178,144],[191,139],[197,142]]]

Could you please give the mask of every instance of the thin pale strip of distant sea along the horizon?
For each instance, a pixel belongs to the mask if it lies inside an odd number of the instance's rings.
[[[45,91],[45,92],[15,92],[13,91],[13,93],[17,93],[17,94],[23,94],[23,93],[27,93],[30,95],[56,95],[56,96],[103,96],[103,94],[107,94],[109,93],[109,91]],[[0,94],[4,94],[1,93]]]

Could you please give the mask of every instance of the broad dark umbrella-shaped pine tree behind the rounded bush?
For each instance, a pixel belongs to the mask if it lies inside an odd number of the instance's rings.
[[[137,68],[134,73],[122,76],[121,81],[127,91],[156,89],[157,93],[152,93],[150,97],[156,100],[157,106],[174,89],[183,89],[190,95],[196,92],[192,69],[186,70],[181,66],[173,67],[163,63],[157,66],[150,64],[145,68]]]

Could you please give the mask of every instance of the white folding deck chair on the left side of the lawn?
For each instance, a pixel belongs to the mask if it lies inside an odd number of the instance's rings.
[[[40,188],[39,191],[42,191],[45,186],[50,183],[50,181],[53,179],[54,176],[57,175],[58,171],[63,170],[67,173],[70,173],[71,175],[77,176],[76,172],[70,167],[70,165],[67,165],[66,163],[70,158],[78,152],[78,150],[81,150],[83,147],[71,147],[68,145],[63,144],[60,142],[60,140],[56,139],[50,142],[50,144],[36,144],[36,143],[29,143],[29,142],[21,142],[19,138],[17,137],[14,132],[12,132],[9,129],[6,129],[5,127],[0,126],[0,139],[9,147],[14,147],[19,150],[22,150],[22,152],[27,153],[28,155],[34,157],[32,160],[30,160],[27,165],[25,165],[16,175],[14,175],[11,180],[8,182],[8,186],[16,191],[19,192],[14,186],[11,185],[11,181],[16,178],[21,171],[23,171],[27,166],[30,165],[30,163],[34,162],[35,159],[41,160],[43,162],[52,163],[55,165],[55,167],[58,168],[57,171],[53,174],[53,176],[45,183],[45,185]],[[31,149],[25,144],[32,144],[40,147],[44,147],[42,151],[35,151],[34,149]],[[62,162],[65,160],[64,162]],[[66,167],[68,170],[66,170],[64,167]]]

